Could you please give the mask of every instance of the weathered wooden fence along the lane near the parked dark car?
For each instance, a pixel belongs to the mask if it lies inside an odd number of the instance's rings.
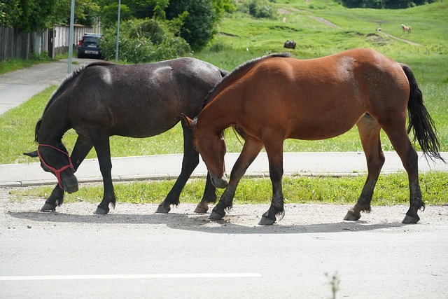
[[[99,26],[84,27],[75,25],[73,30],[73,46],[78,46],[78,41],[85,32],[99,33]],[[55,25],[52,29],[41,32],[29,32],[22,34],[16,28],[0,26],[0,61],[10,58],[29,59],[31,53],[48,53],[51,58],[57,54],[66,53],[69,50],[68,26]]]

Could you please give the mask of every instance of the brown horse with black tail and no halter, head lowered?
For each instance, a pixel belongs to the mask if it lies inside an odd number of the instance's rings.
[[[202,155],[211,181],[225,188],[209,218],[220,219],[232,207],[235,189],[251,162],[265,146],[272,181],[272,203],[260,225],[271,225],[283,216],[283,140],[318,140],[336,137],[358,126],[367,158],[367,180],[356,205],[345,220],[356,221],[370,202],[384,164],[379,132],[384,130],[400,156],[409,177],[410,207],[402,221],[419,221],[424,209],[419,187],[418,155],[409,140],[410,130],[421,150],[443,160],[421,90],[412,71],[368,49],[312,60],[269,55],[232,71],[207,96],[207,106],[195,118],[186,116],[193,130],[193,143]],[[409,125],[406,127],[406,115]],[[247,134],[241,155],[225,176],[223,130],[239,126]]]

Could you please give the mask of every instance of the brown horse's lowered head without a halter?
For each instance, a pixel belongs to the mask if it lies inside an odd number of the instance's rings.
[[[226,152],[225,140],[222,133],[216,134],[209,130],[197,127],[197,118],[191,120],[182,114],[183,122],[193,131],[193,145],[204,160],[210,174],[211,183],[216,188],[225,188],[228,185],[225,175],[224,155]]]

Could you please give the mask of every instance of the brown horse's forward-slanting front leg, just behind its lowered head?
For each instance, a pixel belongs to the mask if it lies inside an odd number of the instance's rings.
[[[258,139],[246,137],[241,154],[230,173],[229,184],[227,188],[225,188],[223,195],[221,195],[218,204],[216,204],[216,207],[214,207],[211,212],[209,219],[221,219],[225,216],[225,210],[232,208],[233,197],[235,197],[235,190],[237,189],[238,183],[241,180],[241,177],[246,173],[248,167],[252,164],[253,160],[257,158],[262,146],[262,142]]]

